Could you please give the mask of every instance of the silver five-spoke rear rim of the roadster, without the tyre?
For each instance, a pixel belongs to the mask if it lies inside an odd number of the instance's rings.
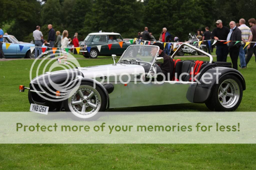
[[[240,89],[237,82],[232,79],[223,81],[218,90],[218,97],[223,107],[234,107],[240,98]]]

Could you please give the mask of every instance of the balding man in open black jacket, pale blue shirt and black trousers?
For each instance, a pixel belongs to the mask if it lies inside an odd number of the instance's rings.
[[[229,46],[229,55],[232,61],[233,69],[237,70],[237,59],[239,55],[240,46],[242,45],[241,42],[236,43],[236,41],[242,41],[242,32],[239,28],[236,27],[236,22],[231,21],[229,23],[230,32],[227,37],[227,42]]]

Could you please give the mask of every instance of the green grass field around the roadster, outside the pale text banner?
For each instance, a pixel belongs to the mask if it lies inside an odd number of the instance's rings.
[[[113,63],[110,57],[98,59],[85,59],[81,55],[75,57],[82,67]],[[185,56],[181,59],[192,58]],[[193,59],[208,60],[207,57]],[[18,86],[29,84],[29,70],[33,61],[24,59],[0,61],[0,111],[29,111],[27,93],[19,93]],[[246,90],[237,111],[256,111],[254,58],[247,69],[239,71],[246,80]],[[14,102],[15,104],[12,104]],[[171,112],[208,111],[208,109],[205,104],[189,103],[120,108],[110,111]],[[254,144],[2,144],[0,168],[255,169],[255,150]]]

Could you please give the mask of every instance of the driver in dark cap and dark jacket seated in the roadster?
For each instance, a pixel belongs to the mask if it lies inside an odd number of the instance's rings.
[[[159,56],[163,57],[164,62],[162,64],[158,64],[158,66],[161,68],[162,73],[165,75],[166,81],[172,81],[173,79],[173,70],[174,70],[174,62],[173,59],[170,56],[167,56],[167,54],[164,53],[164,46],[162,43],[154,43],[153,45],[158,46],[159,49]]]

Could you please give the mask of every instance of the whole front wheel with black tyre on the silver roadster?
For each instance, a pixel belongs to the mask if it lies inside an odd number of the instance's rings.
[[[93,91],[94,96],[90,97],[89,100],[85,98],[81,99],[78,92],[79,90],[82,91],[84,96],[87,95],[88,97],[89,97],[89,94]],[[74,101],[78,101],[78,102],[82,101],[82,102],[81,104],[72,105],[72,102]],[[94,111],[92,107],[86,106],[87,104],[89,105],[89,103],[93,103],[95,106],[97,106]],[[71,117],[71,119],[73,120],[83,120],[83,121],[92,121],[92,120],[99,119],[99,117],[101,116],[101,112],[105,111],[106,105],[107,105],[107,98],[103,89],[100,88],[98,85],[96,85],[96,87],[93,88],[92,82],[81,82],[79,86],[74,87],[73,90],[70,90],[68,94],[68,99],[63,101],[63,106],[68,116]],[[86,107],[86,109],[84,110],[85,111],[84,114],[82,114],[83,107]],[[86,112],[87,108],[88,108],[88,112]],[[81,111],[79,111],[79,109]],[[92,110],[89,111],[89,109],[92,109]]]

